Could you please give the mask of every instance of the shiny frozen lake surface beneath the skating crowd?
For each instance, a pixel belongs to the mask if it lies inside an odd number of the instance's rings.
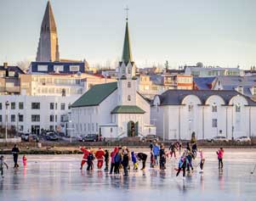
[[[199,167],[183,180],[176,178],[178,160],[168,159],[167,170],[131,170],[128,177],[109,176],[105,171],[79,170],[82,155],[27,155],[28,165],[9,170],[0,178],[0,201],[149,201],[149,200],[255,200],[255,149],[225,149],[224,170],[219,172],[216,149],[206,149],[203,175]],[[149,160],[149,159],[148,159]],[[147,161],[149,162],[149,161]],[[194,165],[199,159],[194,161]],[[95,166],[95,165],[94,165]],[[132,165],[131,165],[132,166]],[[141,164],[139,164],[141,167]]]

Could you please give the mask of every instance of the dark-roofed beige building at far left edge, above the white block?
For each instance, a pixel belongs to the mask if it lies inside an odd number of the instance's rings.
[[[18,66],[0,65],[0,95],[20,94],[20,78],[24,75]]]

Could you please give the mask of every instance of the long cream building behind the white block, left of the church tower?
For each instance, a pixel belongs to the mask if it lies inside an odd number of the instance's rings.
[[[81,74],[26,74],[20,75],[20,92],[29,96],[74,96],[79,98],[90,87],[116,81],[85,73]]]

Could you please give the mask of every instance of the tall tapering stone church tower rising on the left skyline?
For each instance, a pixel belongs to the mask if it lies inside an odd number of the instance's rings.
[[[49,1],[41,25],[36,61],[60,61],[57,28],[54,12]]]

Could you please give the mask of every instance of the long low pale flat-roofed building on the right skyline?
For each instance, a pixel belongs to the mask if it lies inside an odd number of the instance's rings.
[[[203,66],[185,66],[185,75],[193,75],[194,77],[211,77],[219,75],[243,76],[244,71],[237,68],[221,68],[221,67],[203,67]]]

